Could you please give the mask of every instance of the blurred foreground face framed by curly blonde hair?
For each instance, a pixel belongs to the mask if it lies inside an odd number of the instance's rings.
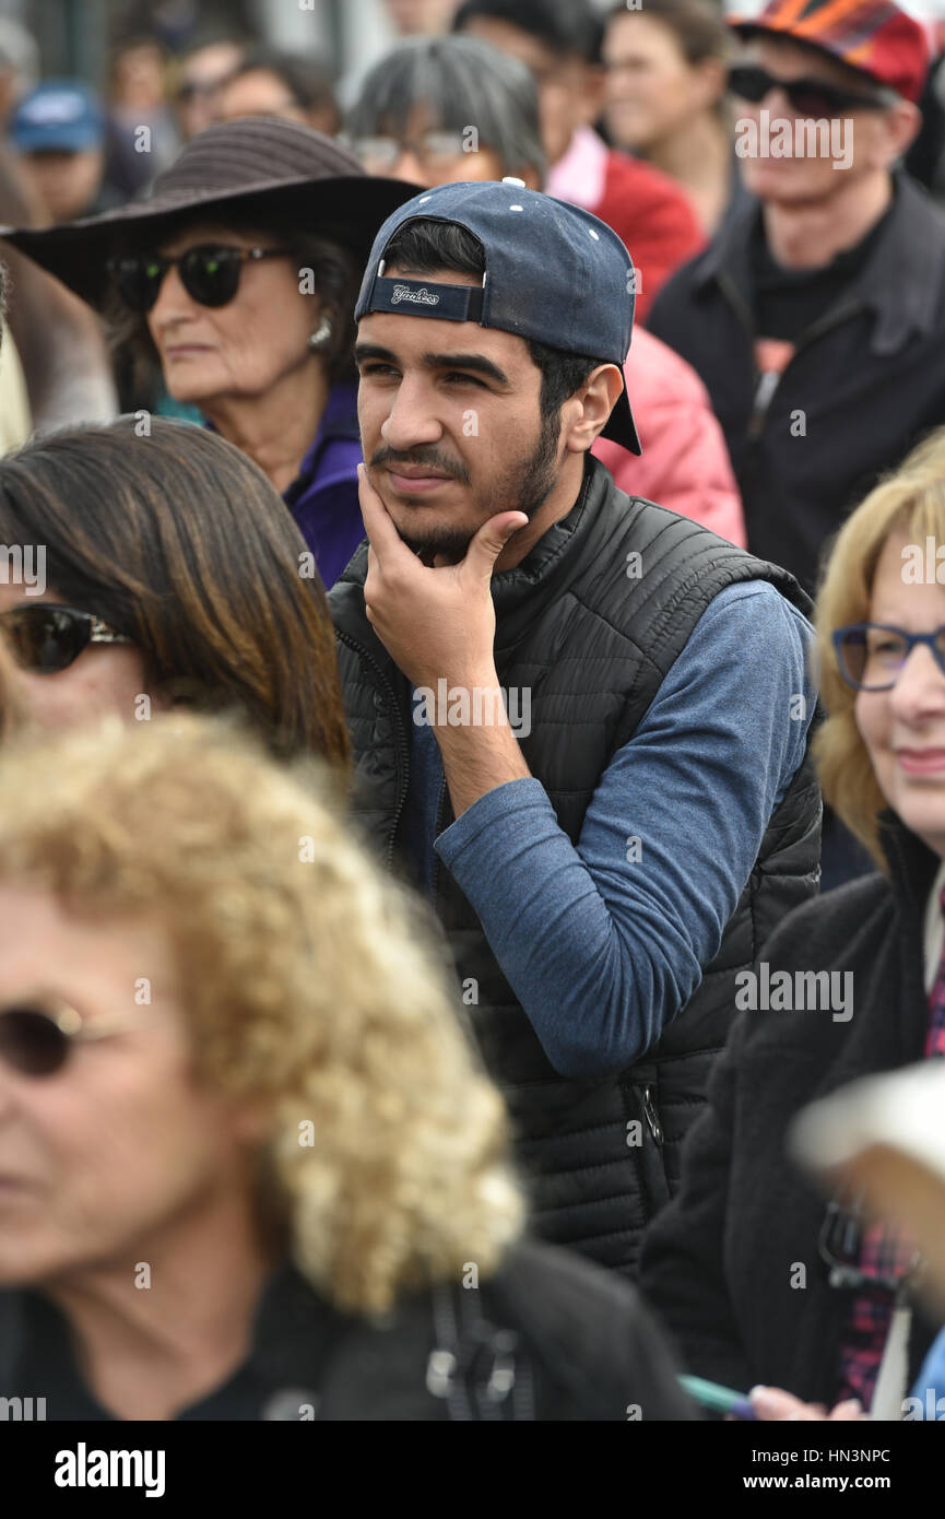
[[[156,917],[76,917],[46,890],[0,883],[0,1010],[50,1000],[102,1037],[49,1075],[0,1056],[0,1284],[119,1268],[131,1285],[182,1224],[248,1192],[243,1124],[193,1077]]]

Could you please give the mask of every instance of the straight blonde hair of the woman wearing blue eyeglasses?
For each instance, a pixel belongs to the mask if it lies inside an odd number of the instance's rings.
[[[886,872],[878,817],[889,802],[857,726],[857,693],[840,674],[831,639],[837,627],[869,621],[880,554],[899,532],[922,550],[927,538],[945,544],[945,428],[919,444],[848,516],[814,609],[820,699],[828,714],[813,741],[823,799]]]

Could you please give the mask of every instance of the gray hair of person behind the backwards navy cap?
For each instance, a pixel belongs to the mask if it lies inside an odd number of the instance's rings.
[[[518,59],[472,36],[412,38],[365,79],[346,137],[403,137],[418,106],[428,111],[433,131],[474,126],[479,146],[498,156],[503,175],[530,169],[544,182],[538,91]]]

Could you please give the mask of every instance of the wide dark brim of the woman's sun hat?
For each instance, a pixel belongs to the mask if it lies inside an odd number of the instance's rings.
[[[330,234],[343,228],[346,246],[366,263],[381,223],[404,201],[419,193],[418,185],[374,175],[286,179],[217,194],[132,201],[102,216],[61,226],[0,226],[0,238],[55,275],[90,305],[100,308],[111,286],[106,261],[125,238],[131,240],[143,232],[156,235],[166,225],[196,222],[204,213],[207,220],[217,216],[225,220],[231,207],[255,208],[258,204],[263,220],[266,211],[281,199],[292,199],[293,223],[301,232]]]

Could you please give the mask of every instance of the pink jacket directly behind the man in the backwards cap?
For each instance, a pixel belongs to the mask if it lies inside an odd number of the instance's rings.
[[[741,497],[702,380],[644,327],[623,366],[643,453],[599,437],[593,453],[627,495],[668,506],[744,548]]]

